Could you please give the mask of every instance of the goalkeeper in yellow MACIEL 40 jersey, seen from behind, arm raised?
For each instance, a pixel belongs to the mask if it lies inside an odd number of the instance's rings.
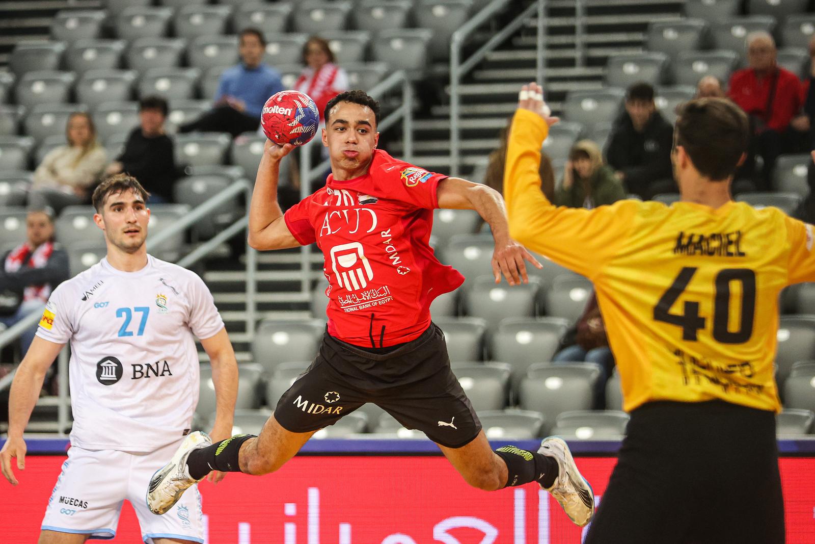
[[[678,112],[681,201],[558,208],[540,192],[548,126],[524,86],[504,170],[512,237],[593,281],[631,414],[586,544],[782,544],[773,377],[778,293],[815,281],[813,226],[730,197],[747,116]]]

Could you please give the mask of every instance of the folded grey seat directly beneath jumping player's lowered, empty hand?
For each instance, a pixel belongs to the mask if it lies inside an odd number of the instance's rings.
[[[478,276],[462,288],[461,306],[465,315],[480,317],[494,329],[507,317],[534,317],[540,283],[533,276],[527,284],[510,287],[505,282],[496,285],[493,276]]]

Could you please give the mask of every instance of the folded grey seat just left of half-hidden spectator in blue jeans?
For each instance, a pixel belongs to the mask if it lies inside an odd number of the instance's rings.
[[[512,365],[514,388],[530,365],[552,360],[567,328],[566,320],[559,317],[510,317],[487,336],[487,360],[503,360]]]

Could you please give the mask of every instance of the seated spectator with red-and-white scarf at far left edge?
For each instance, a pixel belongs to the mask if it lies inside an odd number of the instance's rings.
[[[68,254],[54,245],[54,218],[46,210],[31,210],[25,223],[26,241],[3,255],[0,269],[0,323],[7,327],[42,312],[51,290],[70,276]],[[35,323],[20,335],[23,353],[36,332]]]

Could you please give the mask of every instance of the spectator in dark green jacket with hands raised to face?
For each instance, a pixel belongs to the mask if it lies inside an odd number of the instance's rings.
[[[617,179],[614,170],[603,164],[597,144],[590,139],[581,139],[573,145],[560,188],[555,193],[555,205],[591,209],[623,198],[623,183]]]

